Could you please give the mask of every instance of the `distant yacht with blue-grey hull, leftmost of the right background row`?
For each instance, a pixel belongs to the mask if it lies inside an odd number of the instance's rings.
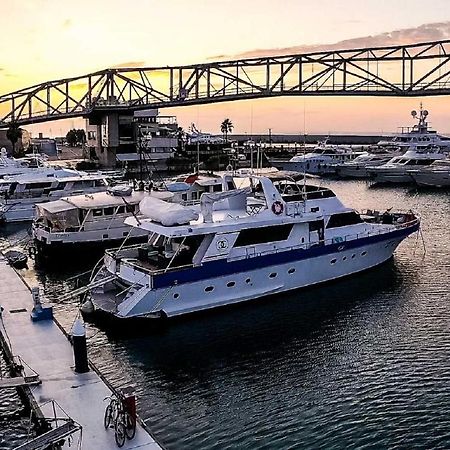
[[[351,147],[328,145],[320,142],[311,152],[293,156],[290,160],[270,159],[272,166],[279,170],[289,170],[311,175],[331,175],[336,173],[336,164],[351,161],[362,152]]]

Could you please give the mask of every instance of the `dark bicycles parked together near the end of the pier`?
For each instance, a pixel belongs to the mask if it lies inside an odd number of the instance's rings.
[[[123,398],[111,395],[106,406],[103,424],[106,429],[114,425],[115,440],[118,447],[123,447],[125,438],[133,439],[136,434],[136,419],[126,410]]]

